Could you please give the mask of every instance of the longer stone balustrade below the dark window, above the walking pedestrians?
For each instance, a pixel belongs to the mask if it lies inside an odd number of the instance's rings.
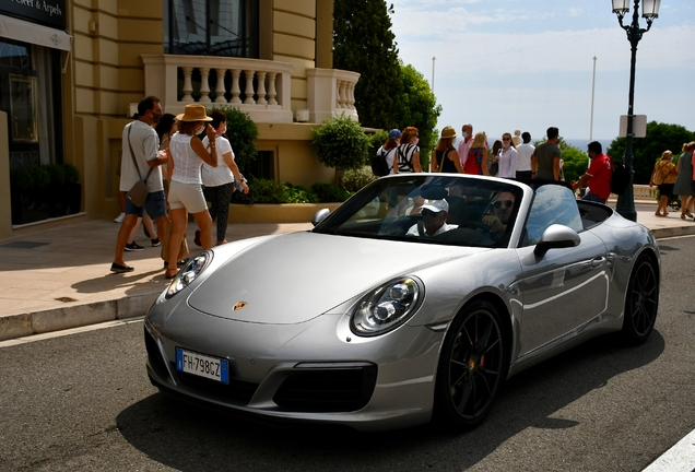
[[[291,73],[286,62],[215,56],[141,55],[145,95],[166,113],[187,104],[233,106],[256,122],[292,122]]]

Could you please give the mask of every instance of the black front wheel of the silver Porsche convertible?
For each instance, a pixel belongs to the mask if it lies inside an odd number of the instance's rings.
[[[506,353],[495,307],[485,300],[466,307],[453,320],[441,349],[435,415],[460,428],[478,426],[507,376]]]

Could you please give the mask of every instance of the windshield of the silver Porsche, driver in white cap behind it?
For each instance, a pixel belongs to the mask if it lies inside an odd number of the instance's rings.
[[[506,247],[522,194],[516,185],[474,176],[381,178],[355,193],[314,232]]]

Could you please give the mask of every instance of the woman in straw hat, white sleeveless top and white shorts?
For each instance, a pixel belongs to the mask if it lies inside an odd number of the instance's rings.
[[[186,105],[186,111],[176,117],[178,132],[169,141],[167,172],[169,185],[169,217],[172,234],[169,236],[167,279],[176,276],[176,258],[181,239],[188,224],[188,212],[192,213],[200,228],[200,243],[203,249],[212,247],[212,219],[208,212],[208,203],[202,192],[200,166],[205,164],[216,167],[215,130],[205,121],[212,118],[205,115],[203,105]],[[205,130],[211,141],[210,152],[205,149],[198,134]]]

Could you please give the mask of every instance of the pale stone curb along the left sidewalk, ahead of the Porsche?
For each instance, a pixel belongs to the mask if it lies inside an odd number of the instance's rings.
[[[161,293],[0,317],[0,341],[144,316]]]

